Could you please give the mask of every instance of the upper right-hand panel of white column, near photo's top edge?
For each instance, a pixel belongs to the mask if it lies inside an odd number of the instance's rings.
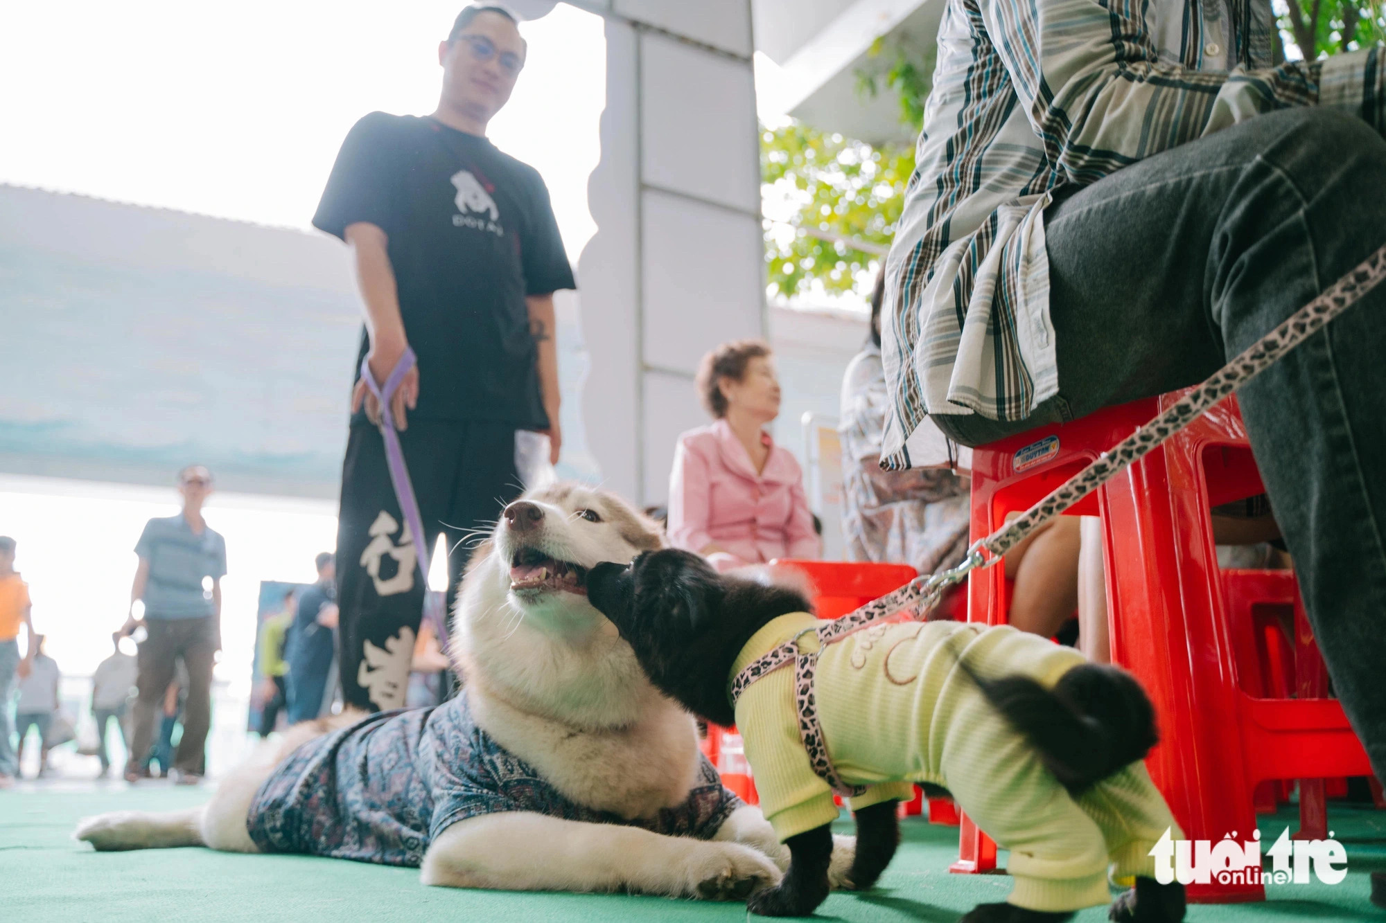
[[[750,64],[642,35],[640,82],[644,182],[758,213]]]

